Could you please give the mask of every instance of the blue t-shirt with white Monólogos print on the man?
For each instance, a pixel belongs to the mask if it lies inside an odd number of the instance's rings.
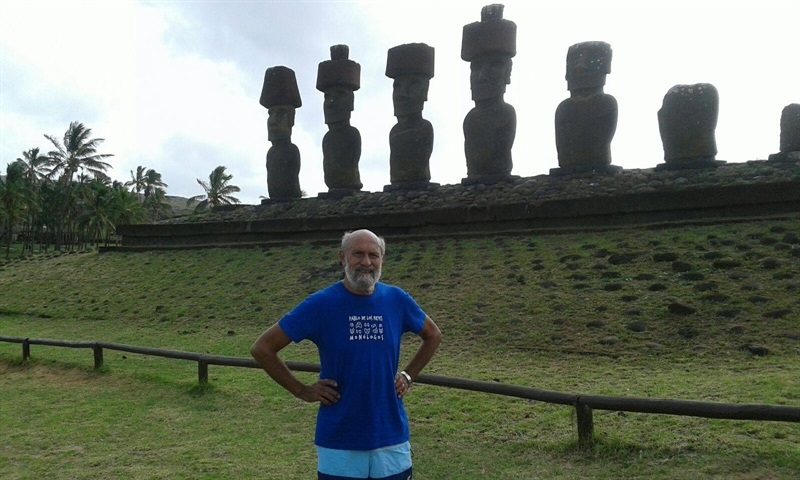
[[[356,295],[342,282],[312,294],[278,322],[293,342],[316,344],[320,378],[339,385],[339,401],[320,404],[316,445],[373,450],[408,441],[394,376],[403,333],[419,333],[424,322],[425,312],[398,287],[378,283],[371,295]]]

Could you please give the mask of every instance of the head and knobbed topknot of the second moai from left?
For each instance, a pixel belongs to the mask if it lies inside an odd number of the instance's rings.
[[[361,65],[350,60],[350,47],[334,45],[331,59],[320,62],[317,69],[317,90],[325,94],[325,123],[350,120],[355,91],[361,88]]]

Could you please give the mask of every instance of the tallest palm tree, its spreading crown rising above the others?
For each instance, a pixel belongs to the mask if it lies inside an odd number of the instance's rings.
[[[110,164],[103,161],[111,154],[97,153],[97,147],[104,142],[102,138],[91,138],[92,129],[86,128],[80,122],[72,122],[69,128],[64,133],[63,143],[52,135],[45,135],[45,138],[56,147],[55,150],[48,153],[50,157],[49,178],[57,175],[58,183],[62,189],[60,192],[63,194],[61,199],[61,212],[59,222],[56,224],[56,250],[61,249],[61,234],[64,227],[68,222],[68,213],[73,207],[74,193],[72,189],[73,180],[75,175],[83,174],[92,175],[95,178],[108,178],[105,171],[111,167]]]

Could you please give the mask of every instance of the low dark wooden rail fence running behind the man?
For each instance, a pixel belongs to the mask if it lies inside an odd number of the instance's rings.
[[[174,358],[197,362],[197,378],[201,384],[208,383],[208,366],[256,368],[261,367],[251,358],[209,355],[204,353],[183,352],[161,348],[139,347],[109,342],[73,342],[68,340],[51,340],[46,338],[20,338],[0,335],[0,342],[22,344],[22,359],[31,356],[31,345],[45,345],[66,348],[91,348],[94,352],[94,368],[103,366],[103,350]],[[319,372],[319,365],[306,362],[288,361],[286,365],[295,371]],[[439,387],[470,390],[474,392],[492,393],[508,397],[524,398],[558,405],[570,405],[575,408],[578,426],[578,444],[588,447],[592,444],[594,421],[592,412],[610,410],[618,412],[655,413],[665,415],[681,415],[703,418],[720,418],[728,420],[756,420],[774,422],[800,423],[800,406],[760,405],[739,403],[699,402],[691,400],[612,397],[603,395],[581,395],[575,393],[554,392],[521,385],[509,385],[498,382],[482,382],[466,378],[445,377],[442,375],[422,374],[417,383]]]

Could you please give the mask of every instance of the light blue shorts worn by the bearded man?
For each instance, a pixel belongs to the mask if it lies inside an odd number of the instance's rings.
[[[319,478],[390,478],[411,468],[408,442],[375,450],[337,450],[317,447]],[[405,480],[405,479],[404,479]]]

